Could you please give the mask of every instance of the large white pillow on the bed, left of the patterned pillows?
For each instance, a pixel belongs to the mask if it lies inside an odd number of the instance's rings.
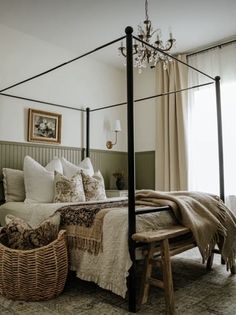
[[[62,165],[58,158],[43,167],[30,156],[24,159],[24,181],[26,203],[53,201],[54,171],[62,173]]]

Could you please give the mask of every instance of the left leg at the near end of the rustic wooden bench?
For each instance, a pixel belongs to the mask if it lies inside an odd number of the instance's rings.
[[[148,299],[149,288],[150,288],[149,278],[151,277],[151,274],[152,274],[152,264],[150,263],[150,260],[152,259],[153,251],[154,251],[154,243],[148,244],[148,253],[145,258],[144,272],[143,272],[142,280],[141,280],[141,290],[140,290],[140,297],[139,297],[139,303],[138,303],[139,305],[145,304]]]

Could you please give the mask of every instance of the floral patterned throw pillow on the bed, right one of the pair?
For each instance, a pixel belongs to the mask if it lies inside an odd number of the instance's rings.
[[[86,175],[81,171],[81,175],[86,201],[106,199],[104,179],[100,171],[94,173],[93,176]]]

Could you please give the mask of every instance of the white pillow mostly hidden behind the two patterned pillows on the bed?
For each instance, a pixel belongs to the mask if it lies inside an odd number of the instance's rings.
[[[61,164],[63,167],[63,174],[69,178],[77,174],[79,171],[84,171],[84,173],[89,176],[93,176],[94,174],[93,165],[90,158],[85,158],[79,163],[79,165],[75,165],[62,157]]]

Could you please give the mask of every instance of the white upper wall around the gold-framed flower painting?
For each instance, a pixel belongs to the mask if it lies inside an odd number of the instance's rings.
[[[0,89],[75,58],[74,54],[48,42],[0,24]],[[116,53],[116,52],[115,52]],[[124,71],[86,57],[5,93],[77,108],[97,108],[124,101]],[[62,114],[64,146],[83,146],[85,115],[69,109],[0,96],[0,140],[27,141],[27,110],[41,109]],[[115,150],[126,150],[126,107],[91,113],[91,148],[106,149],[113,140],[112,125],[120,119]]]

